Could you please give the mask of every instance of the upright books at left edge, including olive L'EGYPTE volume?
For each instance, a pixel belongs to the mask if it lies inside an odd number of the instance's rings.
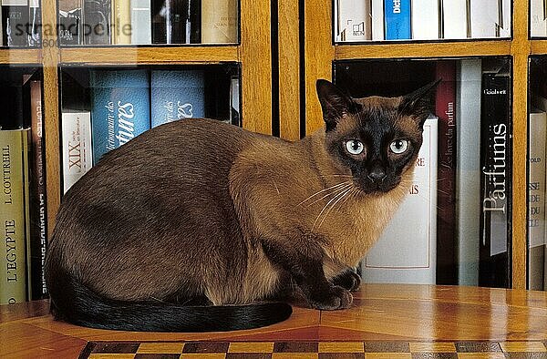
[[[0,304],[46,298],[46,177],[42,128],[42,84],[25,77],[2,84],[0,200],[2,252]],[[7,97],[7,98],[5,98]],[[18,124],[18,126],[14,126]]]

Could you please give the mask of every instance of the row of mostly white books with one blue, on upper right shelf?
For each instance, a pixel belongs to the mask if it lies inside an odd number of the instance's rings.
[[[510,36],[510,0],[335,1],[335,42]]]

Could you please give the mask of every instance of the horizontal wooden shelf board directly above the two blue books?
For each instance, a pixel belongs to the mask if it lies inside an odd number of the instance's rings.
[[[62,64],[195,64],[238,61],[238,46],[108,46],[59,49]]]

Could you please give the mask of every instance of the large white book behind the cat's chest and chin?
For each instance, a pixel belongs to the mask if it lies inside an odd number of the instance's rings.
[[[436,281],[438,119],[426,120],[411,189],[362,261],[364,282]]]

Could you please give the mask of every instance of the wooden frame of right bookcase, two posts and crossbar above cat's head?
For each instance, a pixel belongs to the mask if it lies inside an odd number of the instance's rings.
[[[332,1],[304,2],[306,133],[323,126],[315,97],[315,79],[332,77],[333,61],[342,59],[512,56],[513,59],[513,210],[512,287],[526,288],[526,159],[528,124],[528,56],[547,54],[547,41],[528,36],[529,0],[513,1],[513,38],[489,41],[333,45]],[[329,25],[329,26],[326,26]]]

